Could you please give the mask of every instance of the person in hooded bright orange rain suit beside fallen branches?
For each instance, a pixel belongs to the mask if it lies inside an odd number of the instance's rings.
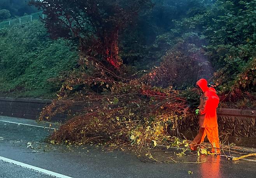
[[[198,88],[203,94],[200,97],[199,109],[199,131],[193,142],[190,144],[191,150],[197,150],[203,142],[205,136],[212,145],[212,150],[208,154],[220,154],[219,133],[217,124],[216,109],[219,104],[219,97],[214,88],[207,86],[206,79],[200,79],[196,82]]]

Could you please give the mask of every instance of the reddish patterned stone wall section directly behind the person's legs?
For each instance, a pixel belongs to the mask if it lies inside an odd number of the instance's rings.
[[[220,140],[256,147],[256,110],[217,109]],[[198,131],[198,118],[193,116],[179,123],[180,133],[193,139]],[[227,142],[226,142],[227,143]]]

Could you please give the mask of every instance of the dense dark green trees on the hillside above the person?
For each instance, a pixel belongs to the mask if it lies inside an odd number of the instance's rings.
[[[145,69],[158,65],[167,51],[182,51],[196,56],[200,60],[196,65],[208,65],[207,79],[222,92],[234,87],[256,92],[255,0],[155,2],[152,12],[141,17],[136,33],[129,34],[131,40],[123,37],[124,62]],[[191,73],[195,67],[191,66]],[[189,85],[194,84],[185,86]]]

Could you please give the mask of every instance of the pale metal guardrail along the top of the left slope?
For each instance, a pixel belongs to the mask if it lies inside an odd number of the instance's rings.
[[[42,17],[43,19],[45,18],[45,15],[43,14],[42,11],[30,14],[30,15],[22,16],[22,17],[19,17],[19,18],[16,18],[16,19],[10,19],[10,20],[7,20],[7,21],[3,21],[3,22],[0,22],[0,29],[1,28],[8,28],[8,27],[11,27],[15,24],[20,24],[20,23],[23,23],[23,22],[31,22],[35,19],[40,19],[40,17]]]

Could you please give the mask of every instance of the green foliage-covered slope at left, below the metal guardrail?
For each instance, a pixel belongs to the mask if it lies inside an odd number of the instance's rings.
[[[52,98],[61,84],[48,79],[77,64],[77,45],[51,40],[39,21],[1,29],[0,41],[2,96]]]

